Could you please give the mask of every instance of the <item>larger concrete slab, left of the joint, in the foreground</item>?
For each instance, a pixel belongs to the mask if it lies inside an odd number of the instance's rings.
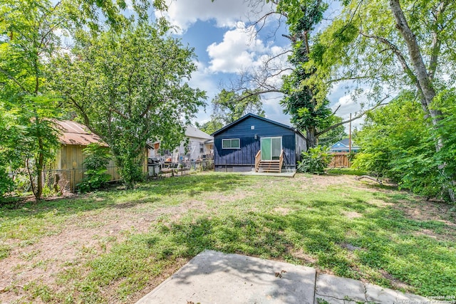
[[[203,251],[138,304],[314,303],[314,268]]]

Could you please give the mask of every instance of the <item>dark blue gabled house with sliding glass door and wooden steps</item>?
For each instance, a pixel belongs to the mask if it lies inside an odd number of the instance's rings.
[[[301,132],[252,113],[212,136],[215,171],[294,172],[306,150]]]

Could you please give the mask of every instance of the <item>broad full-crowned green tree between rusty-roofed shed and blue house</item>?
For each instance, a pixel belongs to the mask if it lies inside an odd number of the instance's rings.
[[[192,48],[162,28],[80,36],[71,56],[53,60],[53,86],[84,124],[110,146],[127,188],[142,177],[147,140],[179,145],[204,92],[185,79],[196,70]]]

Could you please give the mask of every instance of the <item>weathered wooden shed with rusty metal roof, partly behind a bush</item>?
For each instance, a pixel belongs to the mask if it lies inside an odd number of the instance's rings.
[[[56,158],[50,167],[49,174],[58,174],[59,182],[63,189],[75,191],[76,185],[82,182],[84,174],[83,162],[86,156],[83,149],[89,144],[98,143],[106,148],[108,145],[98,135],[91,133],[85,125],[71,120],[56,120],[56,127],[61,134],[58,141],[61,143],[56,150]],[[54,171],[56,170],[56,171]],[[108,174],[111,180],[120,179],[113,161],[108,164]],[[52,176],[55,179],[54,176]]]

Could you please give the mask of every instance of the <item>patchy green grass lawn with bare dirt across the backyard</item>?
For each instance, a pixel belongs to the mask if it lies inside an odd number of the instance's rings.
[[[0,206],[0,303],[134,303],[204,249],[456,295],[456,214],[352,175],[214,172]]]

